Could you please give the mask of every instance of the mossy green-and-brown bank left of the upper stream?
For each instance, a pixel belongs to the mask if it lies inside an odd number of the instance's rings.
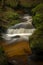
[[[1,16],[2,26],[8,28],[9,26],[15,25],[20,22],[20,15],[15,11],[5,11]]]

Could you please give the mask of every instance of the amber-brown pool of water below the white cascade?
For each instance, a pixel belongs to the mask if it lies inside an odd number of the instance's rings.
[[[28,58],[28,55],[31,54],[31,49],[27,41],[11,45],[6,44],[5,41],[1,41],[0,45],[3,46],[8,61],[13,65],[43,65],[43,61],[34,61]]]

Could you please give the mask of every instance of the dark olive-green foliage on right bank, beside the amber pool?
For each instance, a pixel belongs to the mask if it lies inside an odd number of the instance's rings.
[[[30,47],[37,50],[43,50],[43,24],[30,36]]]

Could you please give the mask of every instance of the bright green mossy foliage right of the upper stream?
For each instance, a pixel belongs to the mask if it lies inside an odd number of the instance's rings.
[[[43,4],[37,5],[35,8],[32,9],[33,13],[33,25],[38,28],[40,25],[43,24]]]

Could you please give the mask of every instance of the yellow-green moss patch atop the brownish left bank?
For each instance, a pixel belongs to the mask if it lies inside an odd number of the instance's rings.
[[[3,18],[4,19],[15,19],[15,18],[19,18],[19,14],[13,11],[7,11],[4,13]]]

